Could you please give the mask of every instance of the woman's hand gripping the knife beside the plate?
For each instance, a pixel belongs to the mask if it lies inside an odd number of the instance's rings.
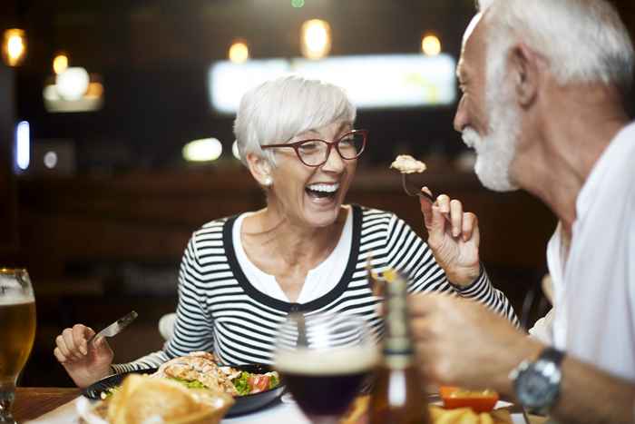
[[[78,387],[87,387],[110,375],[114,353],[103,337],[91,341],[95,332],[83,324],[64,329],[55,339],[55,358],[64,366]]]

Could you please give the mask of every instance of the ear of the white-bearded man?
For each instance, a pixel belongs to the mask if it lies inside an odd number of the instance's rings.
[[[540,86],[542,58],[532,51],[526,44],[515,45],[508,57],[508,69],[513,78],[513,86],[517,95],[518,104],[526,108],[531,105],[538,95]]]

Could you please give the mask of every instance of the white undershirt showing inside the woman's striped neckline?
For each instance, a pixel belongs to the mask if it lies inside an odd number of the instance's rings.
[[[242,213],[236,219],[234,224],[232,242],[236,250],[236,259],[239,266],[244,272],[247,280],[256,290],[261,291],[274,299],[280,301],[289,301],[287,295],[280,288],[276,277],[264,271],[261,271],[252,261],[249,260],[247,253],[242,247],[240,241],[240,229],[242,222],[249,213]],[[353,237],[353,213],[347,211],[347,221],[339,236],[337,246],[328,255],[327,259],[322,261],[312,270],[308,271],[307,279],[304,281],[302,290],[298,296],[298,303],[307,303],[318,299],[333,290],[337,282],[342,278],[342,274],[347,268],[348,257],[350,255],[351,242]]]

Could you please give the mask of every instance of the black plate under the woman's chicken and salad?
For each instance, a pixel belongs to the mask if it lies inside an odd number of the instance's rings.
[[[259,364],[230,365],[230,367],[237,370],[251,372],[253,374],[264,374],[265,372],[269,372],[271,370],[271,367],[268,365]],[[102,393],[106,391],[106,389],[111,389],[112,387],[122,384],[123,378],[128,374],[153,374],[156,370],[156,368],[151,368],[147,370],[136,370],[124,372],[122,374],[115,374],[110,377],[106,377],[103,380],[99,380],[85,389],[82,389],[82,394],[88,399],[102,399]],[[254,393],[253,395],[237,396],[234,398],[236,403],[232,405],[226,417],[234,417],[260,409],[278,399],[282,395],[284,389],[285,386],[282,384],[282,381],[280,381],[280,384],[276,388],[261,391],[260,393]]]

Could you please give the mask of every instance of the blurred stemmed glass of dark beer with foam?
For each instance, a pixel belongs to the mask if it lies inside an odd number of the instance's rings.
[[[313,423],[337,423],[378,360],[366,320],[291,313],[278,329],[274,368]]]

